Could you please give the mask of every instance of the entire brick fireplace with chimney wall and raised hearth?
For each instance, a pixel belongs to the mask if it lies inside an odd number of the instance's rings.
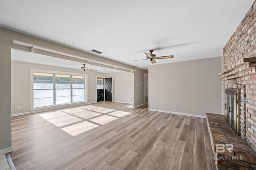
[[[223,71],[218,74],[224,83],[224,115],[206,114],[212,149],[218,170],[256,169],[256,1],[223,49]],[[237,89],[240,120],[228,125],[230,98],[228,89]],[[239,103],[239,102],[238,102]],[[232,114],[231,114],[232,115]],[[226,118],[226,120],[225,120]],[[234,118],[235,119],[235,118]],[[231,121],[232,122],[232,121]],[[237,132],[236,130],[239,130]],[[240,135],[240,136],[238,136]],[[217,152],[216,145],[233,144],[232,152]],[[243,159],[222,159],[233,156]]]

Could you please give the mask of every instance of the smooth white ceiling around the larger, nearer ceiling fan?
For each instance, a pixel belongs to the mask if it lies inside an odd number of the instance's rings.
[[[0,26],[148,69],[219,57],[254,0],[0,0]],[[93,53],[96,54],[96,53]],[[97,54],[96,54],[97,55]]]

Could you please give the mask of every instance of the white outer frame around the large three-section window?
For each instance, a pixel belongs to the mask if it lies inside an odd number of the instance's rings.
[[[34,106],[34,72],[39,73],[53,73],[53,74],[64,74],[64,75],[78,75],[78,76],[84,76],[84,97],[85,101],[81,102],[75,102],[75,103],[66,103],[61,105],[53,105],[53,106],[46,106],[46,107],[37,107],[33,108]],[[62,72],[62,71],[52,71],[52,70],[43,70],[43,69],[32,69],[30,68],[30,111],[38,111],[38,110],[44,110],[44,109],[54,109],[54,108],[61,108],[63,106],[73,106],[73,105],[82,105],[88,103],[88,75],[87,74],[79,74],[79,73],[71,73],[71,72]],[[72,87],[71,87],[72,90]],[[55,99],[54,99],[55,100]]]

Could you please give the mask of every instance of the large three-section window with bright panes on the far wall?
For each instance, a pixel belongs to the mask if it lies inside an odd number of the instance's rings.
[[[34,71],[33,108],[86,101],[86,75]]]

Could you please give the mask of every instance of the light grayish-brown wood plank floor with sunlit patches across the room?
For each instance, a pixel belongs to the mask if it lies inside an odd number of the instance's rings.
[[[17,170],[215,170],[206,119],[101,102],[12,117]]]

